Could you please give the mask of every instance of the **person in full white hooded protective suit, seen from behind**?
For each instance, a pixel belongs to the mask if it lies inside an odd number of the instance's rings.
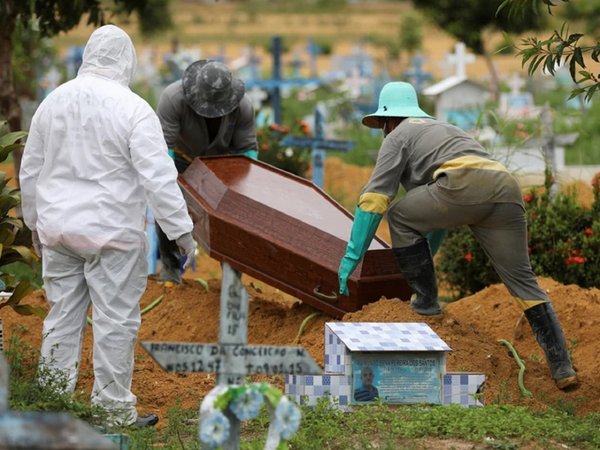
[[[77,77],[33,116],[19,177],[50,306],[40,364],[65,373],[67,389],[75,389],[91,304],[92,403],[115,424],[142,426],[158,422],[154,414],[138,417],[131,392],[147,282],[147,206],[188,263],[196,244],[160,122],[129,89],[135,66],[123,30],[94,31]]]

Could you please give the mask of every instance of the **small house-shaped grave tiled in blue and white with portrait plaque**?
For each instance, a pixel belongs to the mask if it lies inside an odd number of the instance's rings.
[[[321,375],[289,375],[285,393],[315,405],[327,398],[341,410],[386,404],[482,406],[485,375],[447,372],[451,348],[426,323],[328,322]]]

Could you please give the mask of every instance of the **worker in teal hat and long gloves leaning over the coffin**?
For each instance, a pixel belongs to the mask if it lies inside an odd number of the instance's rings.
[[[349,294],[348,278],[387,214],[395,259],[414,293],[411,308],[441,314],[427,235],[467,225],[524,311],[556,386],[576,387],[560,322],[531,269],[517,179],[465,131],[424,112],[409,83],[387,83],[377,111],[362,122],[382,129],[384,139],[340,261],[340,294]],[[392,201],[401,185],[406,194]]]

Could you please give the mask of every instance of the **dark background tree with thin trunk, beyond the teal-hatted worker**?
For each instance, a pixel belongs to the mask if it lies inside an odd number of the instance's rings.
[[[520,1],[520,0],[519,0]],[[531,3],[531,0],[527,0]],[[533,0],[534,3],[549,0]],[[483,56],[492,78],[492,92],[499,93],[498,75],[486,48],[485,34],[491,30],[507,33],[522,33],[526,30],[538,30],[545,24],[545,16],[510,16],[500,9],[502,0],[414,0],[415,8],[444,31],[450,33],[471,49],[476,55]]]

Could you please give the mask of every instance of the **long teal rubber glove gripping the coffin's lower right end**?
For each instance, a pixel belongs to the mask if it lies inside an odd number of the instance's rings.
[[[348,278],[352,275],[352,272],[354,272],[354,269],[356,269],[363,256],[365,256],[382,218],[382,214],[370,213],[356,208],[352,231],[350,232],[350,240],[346,247],[346,254],[342,258],[338,269],[340,294],[348,295]]]

